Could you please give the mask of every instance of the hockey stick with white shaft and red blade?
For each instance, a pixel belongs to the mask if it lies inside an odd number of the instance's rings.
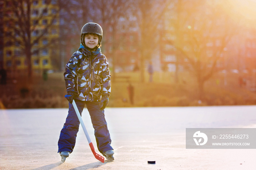
[[[79,119],[79,121],[80,121],[80,124],[82,125],[84,134],[85,134],[85,136],[86,136],[86,138],[87,138],[87,141],[88,141],[88,143],[89,143],[89,146],[90,146],[90,148],[91,148],[91,151],[93,152],[94,157],[95,157],[96,159],[98,159],[99,161],[101,161],[102,163],[104,163],[104,157],[102,157],[101,155],[97,154],[97,153],[95,152],[95,150],[94,150],[93,143],[91,142],[90,136],[89,136],[89,134],[88,134],[88,132],[87,132],[87,130],[86,130],[86,128],[85,128],[85,125],[84,125],[84,123],[83,123],[83,119],[82,119],[82,117],[81,117],[81,115],[80,115],[80,112],[78,111],[78,108],[77,108],[77,106],[76,106],[75,100],[73,100],[72,104],[73,104],[73,107],[74,107],[74,109],[75,109],[75,111],[76,111],[76,115],[77,115],[77,117],[78,117],[78,119]]]

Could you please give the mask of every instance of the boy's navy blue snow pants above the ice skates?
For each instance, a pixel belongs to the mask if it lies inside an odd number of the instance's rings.
[[[113,150],[112,146],[110,146],[111,139],[105,120],[104,110],[100,110],[99,102],[80,100],[75,100],[75,102],[78,110],[80,111],[80,114],[83,111],[84,105],[86,105],[90,113],[99,152],[103,153],[108,150]],[[76,115],[75,109],[73,105],[69,103],[68,116],[66,122],[64,123],[64,127],[60,132],[58,152],[69,151],[71,153],[73,151],[75,147],[76,134],[78,132],[79,124],[80,122]]]

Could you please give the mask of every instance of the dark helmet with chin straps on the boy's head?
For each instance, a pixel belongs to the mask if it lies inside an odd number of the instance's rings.
[[[86,33],[92,33],[92,34],[99,35],[99,42],[98,42],[97,47],[99,47],[101,45],[103,31],[102,31],[102,28],[99,24],[90,22],[90,23],[87,23],[83,26],[83,28],[81,30],[81,43],[82,43],[83,46],[85,46],[85,44],[84,44],[84,35]]]

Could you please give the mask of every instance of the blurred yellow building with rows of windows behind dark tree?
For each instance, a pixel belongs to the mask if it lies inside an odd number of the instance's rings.
[[[26,19],[30,22],[30,31],[24,19],[17,19],[15,15],[15,5],[11,1],[4,1],[4,37],[3,37],[3,66],[5,69],[20,72],[27,69],[27,58],[22,50],[25,43],[31,44],[31,66],[34,72],[53,69],[51,58],[58,56],[57,48],[59,38],[59,7],[57,0],[33,0],[31,4],[22,4],[22,8],[27,11],[30,5],[30,16]],[[22,15],[22,12],[20,12]],[[20,24],[19,22],[23,22]],[[22,26],[21,26],[22,25]],[[23,27],[23,28],[21,28]],[[15,31],[16,30],[16,31]],[[27,32],[25,34],[22,33]],[[21,32],[19,34],[19,32]],[[26,38],[24,38],[26,36]],[[20,42],[19,42],[20,41]]]

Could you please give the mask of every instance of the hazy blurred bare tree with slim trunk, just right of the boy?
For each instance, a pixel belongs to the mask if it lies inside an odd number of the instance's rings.
[[[165,14],[168,0],[138,0],[135,11],[140,32],[140,79],[144,82],[145,61],[149,61],[158,50],[159,35],[163,28],[163,15]]]

